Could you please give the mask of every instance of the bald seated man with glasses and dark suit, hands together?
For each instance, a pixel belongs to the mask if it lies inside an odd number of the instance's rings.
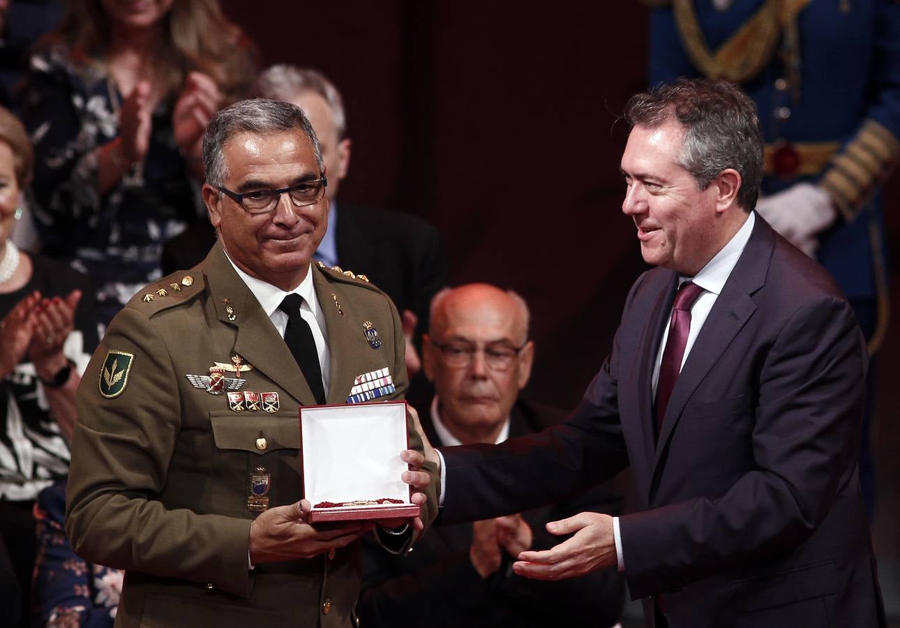
[[[518,399],[535,346],[528,309],[515,292],[472,283],[438,292],[423,342],[425,373],[437,395],[419,413],[434,445],[500,443],[539,432],[563,413]],[[616,624],[624,588],[615,570],[561,581],[525,579],[513,557],[547,549],[545,524],[583,510],[617,511],[608,485],[577,500],[527,513],[437,526],[405,556],[365,547],[359,615],[365,626],[550,626]]]

